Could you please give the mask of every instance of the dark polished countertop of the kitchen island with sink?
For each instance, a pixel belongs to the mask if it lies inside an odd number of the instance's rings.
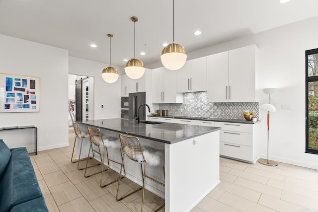
[[[100,129],[169,144],[221,130],[221,128],[217,127],[174,123],[161,123],[156,125],[138,124],[135,120],[127,119],[99,119],[77,122],[79,124],[82,123]]]

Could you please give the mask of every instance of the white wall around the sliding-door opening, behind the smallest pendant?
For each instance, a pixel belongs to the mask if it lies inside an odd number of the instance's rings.
[[[89,61],[85,59],[69,57],[69,73],[94,77],[94,116],[89,119],[110,119],[121,117],[120,103],[120,77],[114,83],[107,83],[101,77],[101,71],[107,64]],[[115,67],[119,74],[123,68]],[[89,96],[91,99],[91,96]],[[105,108],[101,108],[104,104]]]

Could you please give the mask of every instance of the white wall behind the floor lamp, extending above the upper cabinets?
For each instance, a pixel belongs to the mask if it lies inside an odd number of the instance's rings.
[[[253,36],[211,46],[188,54],[188,60],[230,49],[258,46],[259,87],[277,87],[271,95],[276,112],[270,117],[269,159],[318,169],[318,155],[305,153],[305,51],[318,48],[318,16],[271,29]],[[152,64],[148,68],[162,66]],[[268,96],[259,91],[260,104]],[[281,110],[290,104],[291,110]],[[267,154],[266,112],[260,111],[259,156]]]

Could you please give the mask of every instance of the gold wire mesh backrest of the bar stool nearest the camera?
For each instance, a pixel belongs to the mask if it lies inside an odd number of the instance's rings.
[[[127,157],[136,162],[145,161],[143,150],[137,137],[119,134],[119,139],[122,150]]]

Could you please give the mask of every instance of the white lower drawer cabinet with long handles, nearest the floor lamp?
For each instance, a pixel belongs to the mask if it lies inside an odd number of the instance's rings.
[[[257,124],[215,122],[220,127],[220,155],[246,162],[257,159]]]

